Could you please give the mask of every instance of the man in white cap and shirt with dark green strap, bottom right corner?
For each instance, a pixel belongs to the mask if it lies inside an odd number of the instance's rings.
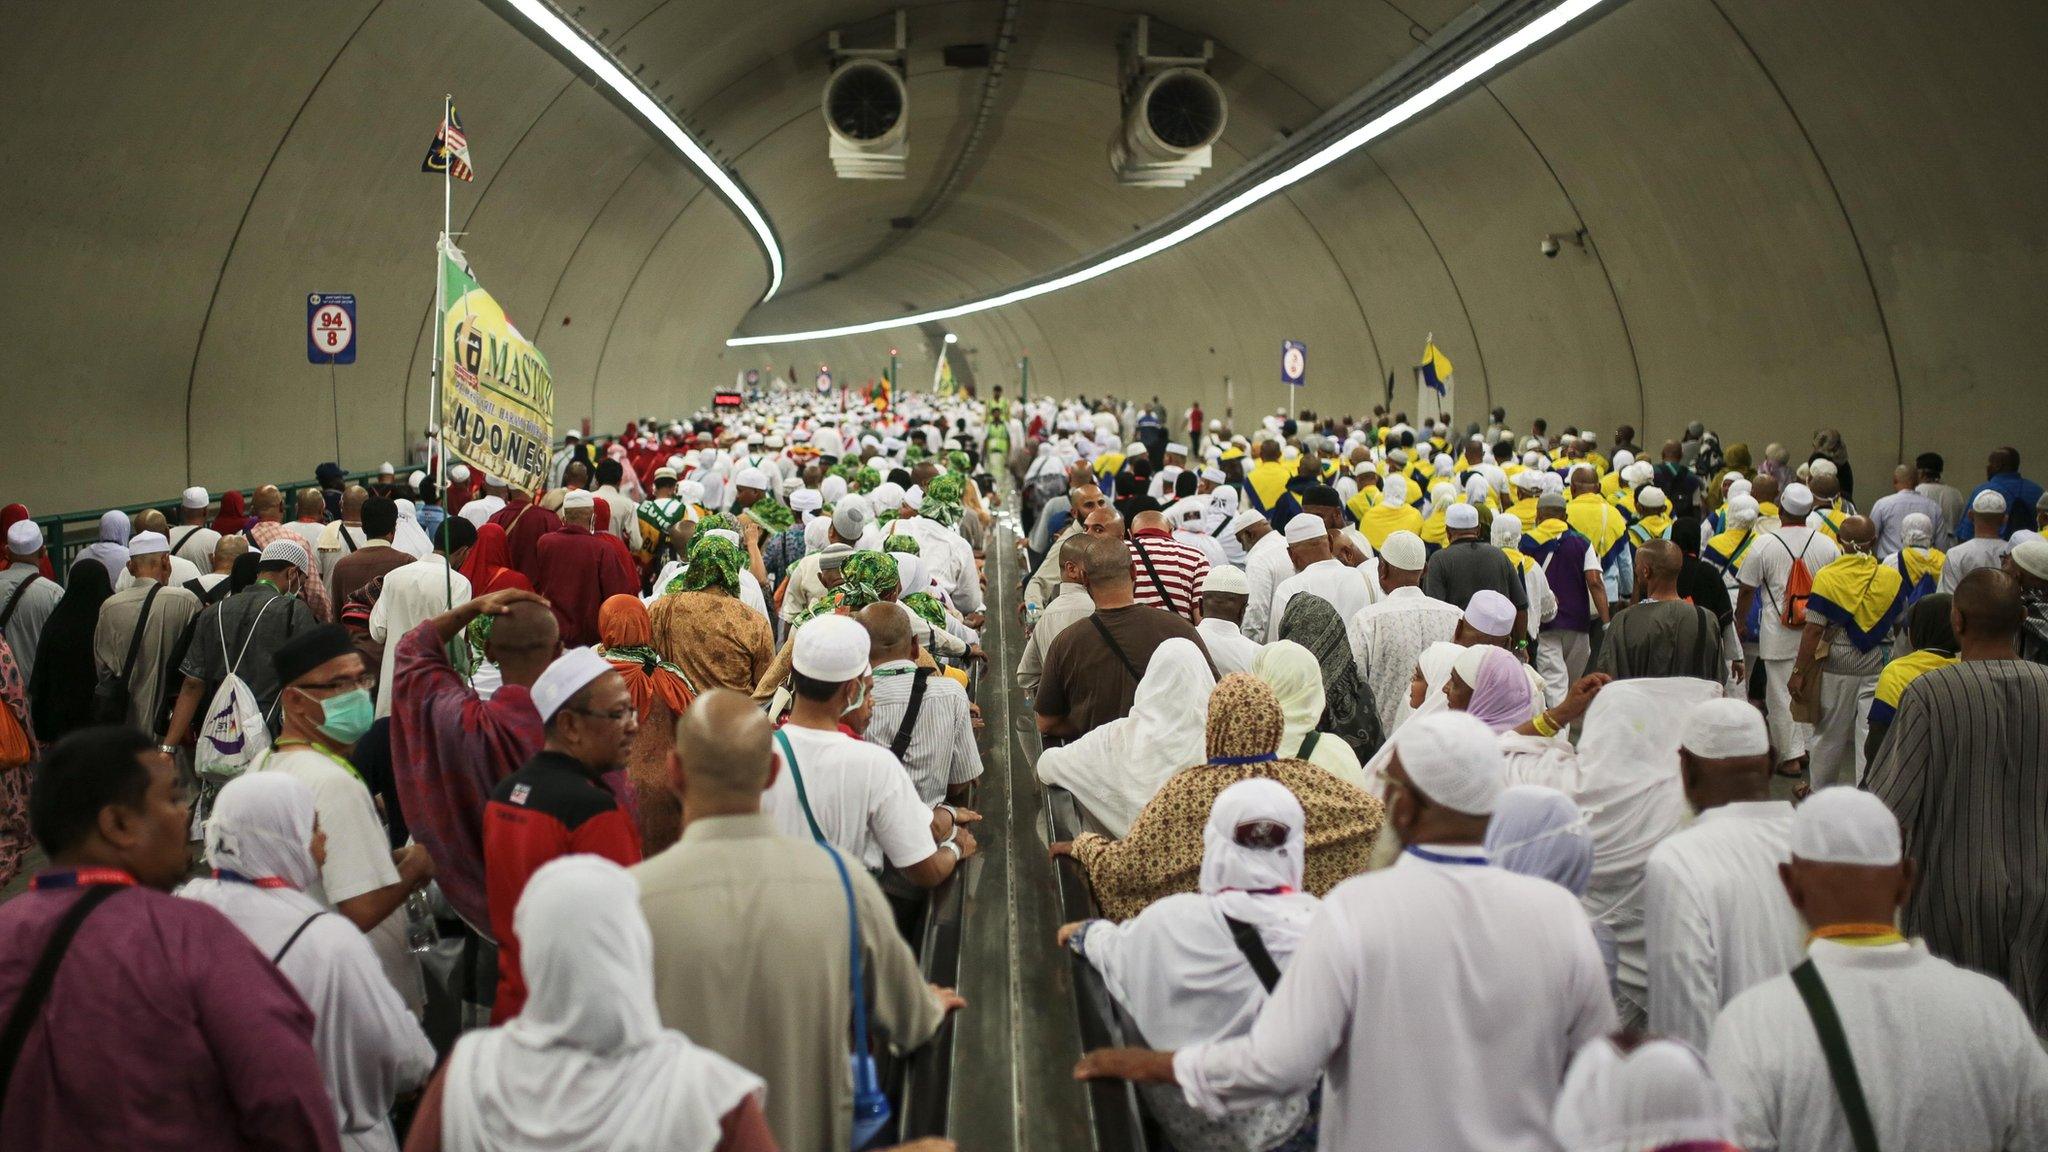
[[[2048,1148],[2048,1052],[2003,984],[1898,935],[1913,873],[1868,791],[1827,787],[1792,816],[1780,875],[1806,963],[1731,1000],[1706,1052],[1749,1152],[1853,1152],[1862,1115],[1872,1148]]]

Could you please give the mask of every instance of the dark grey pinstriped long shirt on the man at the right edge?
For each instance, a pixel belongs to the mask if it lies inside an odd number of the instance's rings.
[[[1913,681],[1864,787],[1905,830],[1905,929],[2003,980],[2048,1035],[2048,668],[1966,660]]]

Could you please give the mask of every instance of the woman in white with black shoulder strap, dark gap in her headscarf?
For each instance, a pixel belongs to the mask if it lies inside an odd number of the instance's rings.
[[[1237,781],[1217,795],[1202,828],[1200,892],[1157,900],[1122,924],[1067,924],[1059,943],[1102,972],[1147,1045],[1176,1050],[1243,1035],[1266,1006],[1266,980],[1286,972],[1315,916],[1317,898],[1303,892],[1303,826],[1300,801],[1286,785]],[[1245,929],[1251,935],[1239,945],[1235,933]],[[1260,974],[1247,947],[1264,949],[1272,970]],[[1141,1091],[1182,1152],[1266,1150],[1309,1119],[1305,1095],[1210,1121],[1180,1088],[1155,1088]]]

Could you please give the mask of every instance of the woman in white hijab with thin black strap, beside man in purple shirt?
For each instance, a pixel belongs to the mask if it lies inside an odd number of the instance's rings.
[[[236,777],[207,820],[213,873],[178,890],[211,904],[291,980],[313,1011],[313,1052],[342,1148],[395,1152],[391,1101],[426,1082],[434,1045],[406,1009],[369,939],[305,894],[326,836],[313,789],[285,773]]]

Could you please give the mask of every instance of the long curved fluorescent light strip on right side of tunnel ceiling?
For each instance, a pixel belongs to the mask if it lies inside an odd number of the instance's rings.
[[[1008,303],[1022,303],[1026,299],[1036,299],[1040,295],[1051,295],[1055,291],[1087,283],[1087,281],[1092,281],[1096,277],[1106,277],[1106,275],[1114,273],[1116,269],[1124,269],[1124,266],[1137,264],[1139,260],[1145,260],[1149,256],[1157,256],[1159,252],[1165,252],[1167,248],[1174,248],[1176,244],[1186,244],[1188,240],[1194,240],[1196,236],[1200,236],[1200,234],[1208,232],[1210,228],[1223,223],[1225,219],[1229,219],[1229,217],[1245,211],[1247,207],[1251,207],[1251,205],[1255,205],[1255,203],[1260,203],[1260,201],[1264,201],[1264,199],[1268,199],[1268,197],[1272,197],[1272,195],[1276,195],[1276,193],[1280,193],[1280,191],[1284,191],[1284,189],[1288,189],[1292,184],[1298,184],[1300,180],[1307,180],[1309,176],[1315,176],[1323,168],[1329,168],[1337,160],[1343,160],[1352,152],[1358,152],[1360,148],[1372,143],[1374,139],[1386,135],[1389,131],[1401,127],[1403,123],[1407,123],[1407,121],[1419,117],[1421,113],[1430,111],[1432,107],[1440,105],[1450,94],[1454,94],[1458,88],[1464,88],[1466,84],[1483,78],[1485,74],[1493,72],[1501,64],[1507,64],[1509,59],[1513,59],[1516,55],[1520,55],[1526,47],[1530,47],[1532,43],[1536,43],[1536,41],[1540,41],[1540,39],[1556,33],[1565,25],[1577,20],[1579,16],[1583,16],[1585,12],[1602,6],[1604,2],[1606,0],[1565,0],[1556,8],[1550,8],[1542,16],[1536,16],[1528,25],[1522,25],[1511,35],[1507,35],[1499,43],[1487,47],[1485,51],[1481,51],[1473,59],[1466,59],[1464,64],[1460,64],[1458,68],[1454,68],[1450,74],[1446,74],[1442,80],[1438,80],[1436,84],[1430,84],[1421,92],[1415,92],[1407,100],[1401,100],[1393,109],[1389,109],[1389,111],[1372,117],[1370,121],[1358,125],[1350,133],[1333,139],[1329,146],[1325,146],[1321,152],[1305,158],[1300,164],[1294,164],[1292,168],[1286,168],[1284,172],[1274,172],[1272,176],[1260,180],[1257,184],[1251,184],[1243,193],[1237,193],[1235,197],[1231,197],[1231,199],[1223,201],[1221,205],[1208,209],[1206,213],[1190,219],[1188,223],[1182,223],[1180,228],[1176,228],[1171,232],[1155,236],[1155,238],[1147,240],[1145,244],[1139,244],[1137,248],[1130,248],[1128,252],[1118,252],[1114,256],[1098,260],[1094,264],[1087,264],[1085,269],[1075,269],[1071,273],[1065,273],[1061,277],[1053,277],[1049,281],[1040,281],[1040,283],[1026,285],[1026,287],[1020,287],[1020,289],[1012,289],[1012,291],[1006,291],[1006,293],[999,293],[999,295],[975,299],[975,301],[969,301],[969,303],[954,303],[950,307],[934,307],[932,312],[918,312],[913,316],[897,316],[897,318],[891,318],[891,320],[870,320],[866,324],[842,324],[838,328],[811,328],[807,332],[776,332],[772,336],[733,336],[731,340],[725,342],[725,346],[727,348],[741,348],[741,346],[748,346],[748,344],[788,344],[788,342],[797,342],[797,340],[829,340],[829,338],[836,338],[836,336],[860,336],[864,332],[885,332],[889,328],[909,328],[913,324],[932,324],[932,322],[938,322],[938,320],[952,320],[956,316],[973,316],[977,312],[989,312],[991,307],[1004,307]]]

